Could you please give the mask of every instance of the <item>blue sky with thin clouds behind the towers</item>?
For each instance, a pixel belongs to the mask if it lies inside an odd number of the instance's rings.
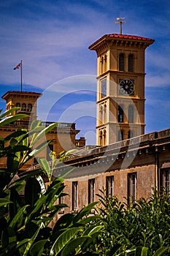
[[[23,90],[51,91],[56,98],[53,104],[40,99],[39,118],[76,121],[79,136],[90,135],[88,144],[95,143],[96,53],[88,46],[104,34],[118,33],[120,16],[127,20],[123,34],[155,39],[146,50],[145,132],[169,128],[169,0],[1,0],[1,95],[20,89],[20,70],[13,67],[22,59]],[[88,85],[81,83],[86,79]],[[0,108],[5,108],[2,99]],[[71,118],[69,110],[77,117]]]

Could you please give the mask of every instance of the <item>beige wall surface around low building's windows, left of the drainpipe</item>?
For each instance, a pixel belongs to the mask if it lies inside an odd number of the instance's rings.
[[[83,206],[88,205],[88,180],[95,178],[95,200],[98,200],[96,194],[101,194],[98,189],[106,189],[107,176],[114,176],[114,195],[122,201],[125,201],[128,193],[128,173],[136,173],[136,200],[140,197],[150,197],[152,187],[155,187],[155,165],[143,165],[131,167],[126,170],[114,170],[107,173],[96,175],[82,176],[64,181],[66,187],[64,192],[69,196],[64,197],[64,203],[69,207],[64,212],[72,211],[72,182],[78,181],[78,211]]]

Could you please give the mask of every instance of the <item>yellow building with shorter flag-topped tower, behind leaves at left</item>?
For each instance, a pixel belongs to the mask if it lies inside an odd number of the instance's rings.
[[[6,101],[6,110],[14,107],[19,107],[20,109],[15,110],[9,115],[15,115],[16,113],[24,113],[28,117],[20,119],[8,124],[4,127],[0,127],[0,136],[2,138],[7,137],[7,135],[15,132],[18,128],[29,129],[31,121],[37,119],[37,99],[41,97],[42,94],[32,91],[7,91],[1,98]],[[47,127],[53,122],[42,121],[42,126]],[[67,151],[72,148],[79,148],[85,146],[85,138],[80,137],[76,139],[76,135],[80,130],[76,129],[76,124],[72,123],[58,123],[55,129],[50,131],[45,140],[52,140],[52,142],[39,153],[37,157],[50,159],[50,151],[55,151],[56,154],[60,154],[61,151]],[[62,144],[61,144],[62,142]],[[64,142],[64,143],[63,143]],[[37,158],[36,157],[36,158]],[[36,164],[36,159],[31,159],[23,166],[23,170],[28,169],[31,165]],[[5,167],[6,159],[1,158],[0,168]]]

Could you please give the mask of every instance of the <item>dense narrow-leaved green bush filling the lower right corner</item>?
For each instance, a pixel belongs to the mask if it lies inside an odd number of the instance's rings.
[[[101,190],[99,213],[104,229],[101,255],[158,256],[170,254],[170,197],[153,189],[148,200],[132,205],[107,197]]]

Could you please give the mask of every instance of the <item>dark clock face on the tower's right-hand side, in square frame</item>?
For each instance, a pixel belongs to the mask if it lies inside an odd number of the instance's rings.
[[[119,80],[119,94],[134,95],[134,80],[120,79]]]

